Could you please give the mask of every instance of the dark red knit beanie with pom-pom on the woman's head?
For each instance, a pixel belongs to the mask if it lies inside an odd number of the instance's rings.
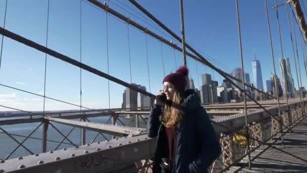
[[[185,66],[180,66],[175,73],[171,73],[164,77],[165,81],[172,83],[179,92],[184,92],[186,88],[186,76],[189,70]]]

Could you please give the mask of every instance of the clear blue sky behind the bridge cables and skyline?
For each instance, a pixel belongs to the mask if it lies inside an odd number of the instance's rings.
[[[5,0],[0,1],[0,24],[4,23]],[[278,4],[283,1],[278,1]],[[180,35],[180,16],[178,1],[145,1],[139,4],[154,14],[163,23]],[[73,59],[108,72],[107,61],[107,30],[106,13],[82,1],[82,27],[80,50],[80,1],[50,0],[47,46]],[[111,8],[135,20],[158,33],[166,39],[171,36],[162,31],[159,26],[141,14],[128,1],[109,0]],[[268,1],[272,39],[277,73],[280,77],[278,58],[281,56],[276,12],[271,7],[274,1]],[[250,73],[253,82],[251,61],[254,59],[253,49],[261,62],[264,87],[265,80],[273,72],[271,49],[269,45],[267,21],[263,1],[239,1],[242,48],[245,71]],[[125,9],[125,10],[123,10]],[[280,24],[284,56],[290,58],[292,76],[297,88],[295,67],[291,50],[285,7],[279,8]],[[136,17],[137,16],[137,17]],[[47,1],[9,1],[6,18],[6,29],[32,39],[41,45],[46,45]],[[186,41],[202,55],[208,54],[214,58],[211,62],[227,72],[240,67],[238,33],[234,1],[184,1],[184,18]],[[140,20],[141,19],[141,20]],[[145,21],[145,22],[144,22]],[[152,27],[154,26],[154,27]],[[297,26],[295,25],[296,29]],[[157,29],[158,28],[158,29]],[[298,29],[296,30],[297,36]],[[130,55],[132,67],[132,82],[146,86],[149,91],[147,61],[145,49],[145,34],[129,26]],[[129,49],[127,24],[112,15],[108,15],[108,50],[109,73],[124,81],[130,82]],[[182,64],[182,54],[173,48],[162,44],[159,40],[147,35],[148,61],[151,93],[156,94],[162,88],[163,67],[165,72],[174,72]],[[306,75],[298,38],[298,53],[301,63],[303,86],[306,85]],[[1,39],[1,38],[0,38]],[[0,43],[1,44],[1,43]],[[180,45],[177,42],[177,45]],[[206,56],[205,56],[206,57]],[[44,61],[45,54],[24,46],[16,41],[4,38],[0,83],[43,95],[44,91]],[[217,64],[224,64],[222,67]],[[213,73],[212,69],[187,59],[190,76],[199,86],[201,73]],[[214,79],[219,83],[223,80],[214,72]],[[198,78],[198,79],[197,79]],[[198,83],[199,81],[199,83]],[[110,81],[111,107],[120,107],[122,103],[123,86]],[[73,104],[80,104],[80,69],[64,63],[54,57],[47,56],[46,96]],[[22,110],[42,110],[43,98],[19,92],[0,86],[0,104]],[[46,99],[46,110],[78,109],[65,103]],[[82,105],[88,108],[108,108],[108,80],[82,70]],[[7,110],[0,108],[0,110]]]

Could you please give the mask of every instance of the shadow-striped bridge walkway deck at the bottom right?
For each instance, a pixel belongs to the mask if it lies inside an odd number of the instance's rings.
[[[292,133],[284,135],[284,148],[280,135],[268,144],[251,153],[251,169],[246,157],[227,172],[307,172],[307,121],[294,123]]]

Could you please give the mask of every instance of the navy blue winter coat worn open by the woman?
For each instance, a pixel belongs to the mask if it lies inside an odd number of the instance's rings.
[[[199,104],[194,90],[185,91],[184,102],[180,105],[182,120],[175,127],[177,141],[174,146],[173,173],[203,173],[220,155],[221,147],[206,110]],[[160,163],[168,157],[165,126],[159,120],[162,107],[151,108],[147,122],[147,136],[158,136],[153,172],[161,172]]]

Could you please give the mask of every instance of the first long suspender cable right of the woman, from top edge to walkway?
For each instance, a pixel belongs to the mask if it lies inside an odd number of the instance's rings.
[[[242,55],[242,41],[241,41],[241,28],[240,28],[240,16],[238,0],[235,0],[236,4],[236,14],[237,14],[237,25],[238,25],[238,37],[239,37],[239,50],[241,58],[241,68],[243,73],[243,99],[244,99],[244,113],[245,113],[245,129],[246,129],[246,140],[247,140],[247,152],[248,152],[248,168],[250,169],[250,144],[249,144],[249,132],[248,132],[248,122],[247,122],[247,107],[246,107],[246,96],[245,96],[245,76],[244,76],[244,65],[243,65],[243,55]]]

